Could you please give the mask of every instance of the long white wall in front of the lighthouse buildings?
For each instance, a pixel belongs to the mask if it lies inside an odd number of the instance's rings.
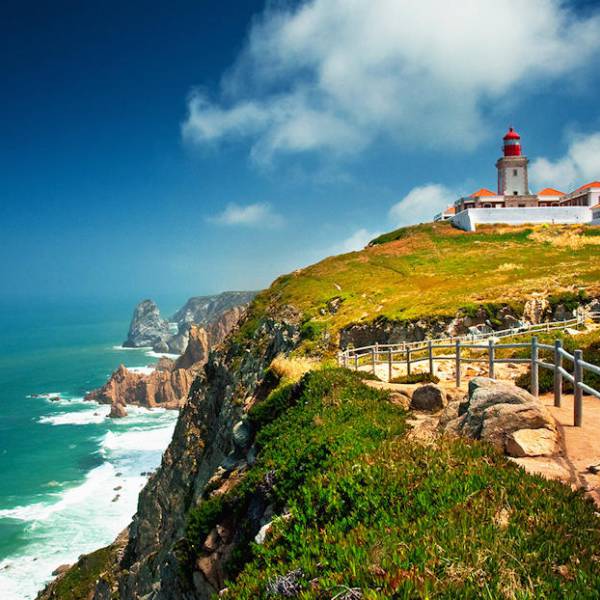
[[[585,206],[548,206],[532,208],[470,208],[455,215],[451,221],[459,229],[475,231],[478,224],[526,223],[574,224],[589,223],[592,211]]]

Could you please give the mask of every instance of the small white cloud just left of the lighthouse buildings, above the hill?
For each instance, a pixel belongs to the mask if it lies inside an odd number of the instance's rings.
[[[438,183],[418,186],[390,208],[389,217],[398,227],[432,221],[433,216],[452,204],[456,197],[450,189]]]

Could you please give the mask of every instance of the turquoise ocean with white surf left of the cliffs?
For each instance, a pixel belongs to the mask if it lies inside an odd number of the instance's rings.
[[[109,544],[136,511],[177,413],[84,402],[120,363],[133,303],[0,305],[0,598],[28,600],[62,564]],[[60,398],[56,400],[56,398]]]

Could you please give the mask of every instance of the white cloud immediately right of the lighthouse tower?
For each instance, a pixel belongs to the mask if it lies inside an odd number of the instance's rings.
[[[565,155],[557,160],[536,159],[529,178],[536,189],[558,187],[565,192],[600,179],[600,132],[574,136]]]

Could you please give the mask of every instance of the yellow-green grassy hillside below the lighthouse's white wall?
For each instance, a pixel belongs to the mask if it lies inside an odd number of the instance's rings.
[[[533,292],[600,293],[599,245],[600,229],[584,226],[482,226],[467,233],[448,223],[418,225],[279,277],[253,311],[292,305],[310,320],[310,338],[377,317],[454,316],[484,302],[518,304]]]

